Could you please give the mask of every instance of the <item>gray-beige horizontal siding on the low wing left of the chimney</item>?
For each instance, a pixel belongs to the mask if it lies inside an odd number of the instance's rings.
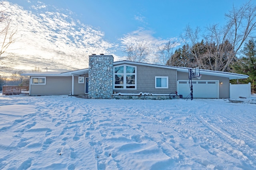
[[[45,85],[31,84],[31,95],[69,95],[72,92],[72,76],[48,76]]]

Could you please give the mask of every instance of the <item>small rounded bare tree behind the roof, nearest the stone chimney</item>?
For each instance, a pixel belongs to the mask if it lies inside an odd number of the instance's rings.
[[[147,62],[148,55],[151,50],[144,41],[136,41],[125,45],[124,53],[126,53],[126,59],[135,62]]]

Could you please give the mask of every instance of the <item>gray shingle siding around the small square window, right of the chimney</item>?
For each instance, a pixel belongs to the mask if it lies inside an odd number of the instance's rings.
[[[170,94],[177,89],[176,70],[166,68],[156,68],[151,66],[137,66],[137,90],[119,90],[115,89],[116,93],[153,93],[153,94]],[[156,76],[168,76],[168,88],[155,88]]]

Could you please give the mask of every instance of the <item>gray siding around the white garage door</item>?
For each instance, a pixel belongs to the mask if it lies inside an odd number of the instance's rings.
[[[177,80],[188,80],[188,72],[177,72]],[[194,80],[198,79],[194,78]],[[223,82],[223,84],[219,84],[219,98],[229,98],[229,78],[202,74],[200,80],[219,80],[219,82]]]

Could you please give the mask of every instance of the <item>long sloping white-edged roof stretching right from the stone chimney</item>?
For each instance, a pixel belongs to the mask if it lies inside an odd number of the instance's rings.
[[[134,61],[116,61],[113,63],[114,66],[120,65],[120,64],[136,64],[136,65],[143,65],[143,66],[153,66],[158,68],[168,68],[168,69],[174,69],[180,72],[188,72],[189,67],[178,67],[178,66],[166,66],[166,65],[158,65],[158,64],[149,64],[149,63],[139,63]],[[232,79],[243,79],[248,78],[248,75],[244,74],[236,74],[232,72],[223,72],[223,71],[214,71],[214,70],[204,70],[200,69],[200,74],[209,75],[209,76],[221,76],[221,77],[227,77],[230,80]]]

